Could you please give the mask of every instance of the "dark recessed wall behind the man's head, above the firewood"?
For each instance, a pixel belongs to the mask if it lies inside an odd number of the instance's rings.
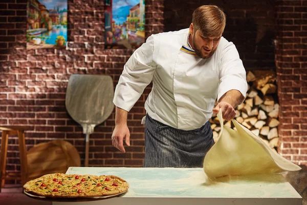
[[[164,30],[188,28],[202,5],[221,7],[227,16],[224,37],[233,42],[246,70],[272,69],[274,63],[274,1],[164,1]]]

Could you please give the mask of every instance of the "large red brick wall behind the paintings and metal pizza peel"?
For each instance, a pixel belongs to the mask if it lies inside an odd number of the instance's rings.
[[[82,128],[64,107],[68,79],[73,73],[107,74],[117,84],[133,50],[104,50],[104,1],[68,0],[66,50],[26,50],[27,0],[0,3],[0,125],[29,125],[26,144],[64,139],[78,149],[82,165]],[[146,0],[146,36],[163,31],[163,0]],[[112,146],[114,113],[97,126],[90,140],[90,166],[142,166],[146,89],[128,115],[131,147],[121,154]],[[16,137],[9,138],[7,170],[18,171]]]

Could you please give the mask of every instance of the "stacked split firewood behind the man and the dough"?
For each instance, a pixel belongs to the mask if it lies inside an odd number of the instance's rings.
[[[279,124],[276,74],[273,71],[249,71],[247,82],[246,99],[236,108],[235,119],[275,150],[278,144]],[[210,122],[214,141],[217,141],[221,126],[215,114]],[[224,125],[235,129],[231,121],[224,121]]]

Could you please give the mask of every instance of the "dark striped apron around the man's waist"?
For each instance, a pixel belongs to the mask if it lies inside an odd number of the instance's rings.
[[[186,131],[146,115],[144,167],[201,168],[213,144],[209,121],[201,128]]]

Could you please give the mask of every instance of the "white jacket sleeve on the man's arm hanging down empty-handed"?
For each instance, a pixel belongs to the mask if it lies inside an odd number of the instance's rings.
[[[128,59],[115,89],[115,106],[130,111],[151,82],[156,64],[153,62],[154,39],[149,36]]]

